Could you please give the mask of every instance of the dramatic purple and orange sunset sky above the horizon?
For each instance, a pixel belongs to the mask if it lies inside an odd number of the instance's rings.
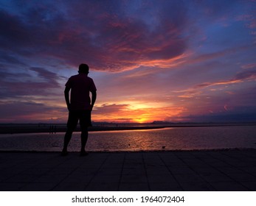
[[[256,1],[0,0],[0,123],[66,122],[80,63],[93,121],[256,121]]]

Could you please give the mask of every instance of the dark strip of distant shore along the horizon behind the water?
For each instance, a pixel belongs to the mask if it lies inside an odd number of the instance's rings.
[[[173,123],[173,124],[98,124],[89,127],[91,132],[138,129],[164,129],[176,127],[230,127],[256,126],[256,123]],[[76,132],[80,131],[77,127]],[[0,124],[0,134],[66,132],[66,124]]]

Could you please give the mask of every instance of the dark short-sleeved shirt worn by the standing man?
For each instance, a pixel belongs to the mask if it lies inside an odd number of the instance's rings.
[[[77,74],[69,78],[66,87],[71,88],[71,110],[90,110],[91,98],[89,92],[96,91],[93,79],[87,74]]]

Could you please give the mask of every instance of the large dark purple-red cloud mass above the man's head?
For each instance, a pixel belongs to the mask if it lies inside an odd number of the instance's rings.
[[[90,10],[84,10],[86,4]],[[162,4],[154,6],[164,9]],[[178,7],[168,6],[178,14]],[[89,62],[100,71],[125,71],[152,61],[170,61],[187,48],[181,37],[184,13],[177,18],[141,7],[124,18],[119,10],[125,12],[125,5],[113,8],[111,1],[103,6],[86,1],[83,9],[79,3],[72,7],[62,3],[58,7],[65,9],[60,12],[54,4],[38,3],[22,8],[19,15],[1,11],[3,48],[15,48],[11,51],[23,57],[55,57],[71,65]],[[153,26],[146,20],[152,15],[157,19]]]

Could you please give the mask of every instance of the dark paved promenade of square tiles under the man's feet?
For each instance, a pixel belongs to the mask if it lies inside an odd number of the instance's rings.
[[[0,152],[0,191],[256,191],[256,150]]]

